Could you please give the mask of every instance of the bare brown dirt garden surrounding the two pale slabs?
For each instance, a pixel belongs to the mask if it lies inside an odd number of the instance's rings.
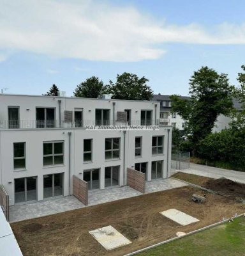
[[[244,188],[237,191],[223,186],[222,182],[219,184],[220,180],[205,180],[205,184],[207,182],[211,182],[209,188],[222,190],[224,195],[207,193],[205,203],[197,204],[191,201],[191,195],[202,195],[202,191],[186,186],[11,223],[11,227],[24,256],[124,255],[175,237],[178,231],[189,232],[220,221],[223,217],[245,212],[245,205],[236,199],[245,197]],[[181,226],[159,214],[167,209],[178,209],[200,221]],[[112,225],[132,244],[112,251],[105,250],[88,232],[107,225]]]

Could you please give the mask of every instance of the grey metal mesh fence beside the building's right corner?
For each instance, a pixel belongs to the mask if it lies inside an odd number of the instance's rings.
[[[189,152],[181,152],[178,150],[172,151],[171,157],[171,169],[172,170],[184,170],[189,169]]]

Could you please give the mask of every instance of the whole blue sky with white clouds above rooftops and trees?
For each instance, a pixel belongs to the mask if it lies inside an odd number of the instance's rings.
[[[67,96],[130,72],[154,93],[188,95],[202,66],[237,85],[245,64],[244,0],[0,0],[0,89]]]

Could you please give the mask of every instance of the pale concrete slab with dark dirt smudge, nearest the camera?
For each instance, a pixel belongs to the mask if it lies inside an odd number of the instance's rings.
[[[89,231],[89,234],[91,234],[91,236],[93,236],[106,250],[113,250],[132,243],[112,226]]]

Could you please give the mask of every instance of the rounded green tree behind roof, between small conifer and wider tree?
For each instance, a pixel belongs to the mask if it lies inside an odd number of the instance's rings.
[[[107,93],[107,87],[104,86],[103,81],[99,80],[99,77],[91,76],[77,85],[73,95],[75,97],[84,98],[98,98],[101,94]]]

